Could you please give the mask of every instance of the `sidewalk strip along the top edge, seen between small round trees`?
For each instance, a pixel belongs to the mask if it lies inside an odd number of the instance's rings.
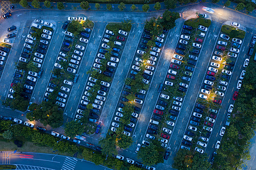
[[[216,5],[223,6],[226,1],[228,1],[228,0],[220,1],[220,2],[216,3]],[[207,6],[207,3],[214,4],[214,3],[212,3],[211,0],[207,0],[206,2],[197,1],[195,3],[202,3],[205,6]],[[194,3],[187,3],[185,5],[188,6],[188,5],[192,5],[192,4],[194,4]],[[28,2],[28,5],[29,5],[30,9],[35,9],[34,7],[31,6],[31,2]],[[52,5],[51,8],[47,8],[47,7],[44,6],[44,3],[41,2],[40,3],[41,8],[39,8],[39,9],[57,10],[57,3],[56,2],[51,3],[51,5]],[[89,10],[90,11],[109,11],[106,8],[106,3],[100,3],[100,10],[97,10],[97,8],[95,7],[95,3],[89,3],[89,5],[90,5],[90,8],[87,11],[89,11]],[[160,5],[161,5],[160,10],[166,10],[164,2],[160,2]],[[64,3],[64,6],[65,6],[64,10],[82,10],[82,8],[80,7],[80,3]],[[126,4],[125,9],[123,9],[123,11],[143,12],[143,10],[142,10],[143,5],[135,5],[136,6],[135,10],[132,10],[131,6],[132,6],[131,4]],[[156,11],[155,8],[154,8],[155,4],[150,4],[149,6],[150,6],[150,8],[149,8],[148,12]],[[177,3],[176,6],[177,7],[182,7],[184,5],[180,5],[179,3]],[[229,7],[226,7],[226,8],[230,8],[230,9],[234,10],[236,8],[236,6],[237,6],[237,3],[231,2],[231,5]],[[19,9],[23,9],[23,7],[20,6],[18,3],[16,3],[14,5],[14,7],[15,7],[14,11],[19,10]],[[119,8],[118,8],[118,4],[113,4],[111,11],[120,11]],[[242,10],[240,12],[242,12],[243,14],[246,14],[245,10]],[[256,17],[256,10],[254,10],[253,12],[250,12],[250,14],[247,14],[247,15]]]

